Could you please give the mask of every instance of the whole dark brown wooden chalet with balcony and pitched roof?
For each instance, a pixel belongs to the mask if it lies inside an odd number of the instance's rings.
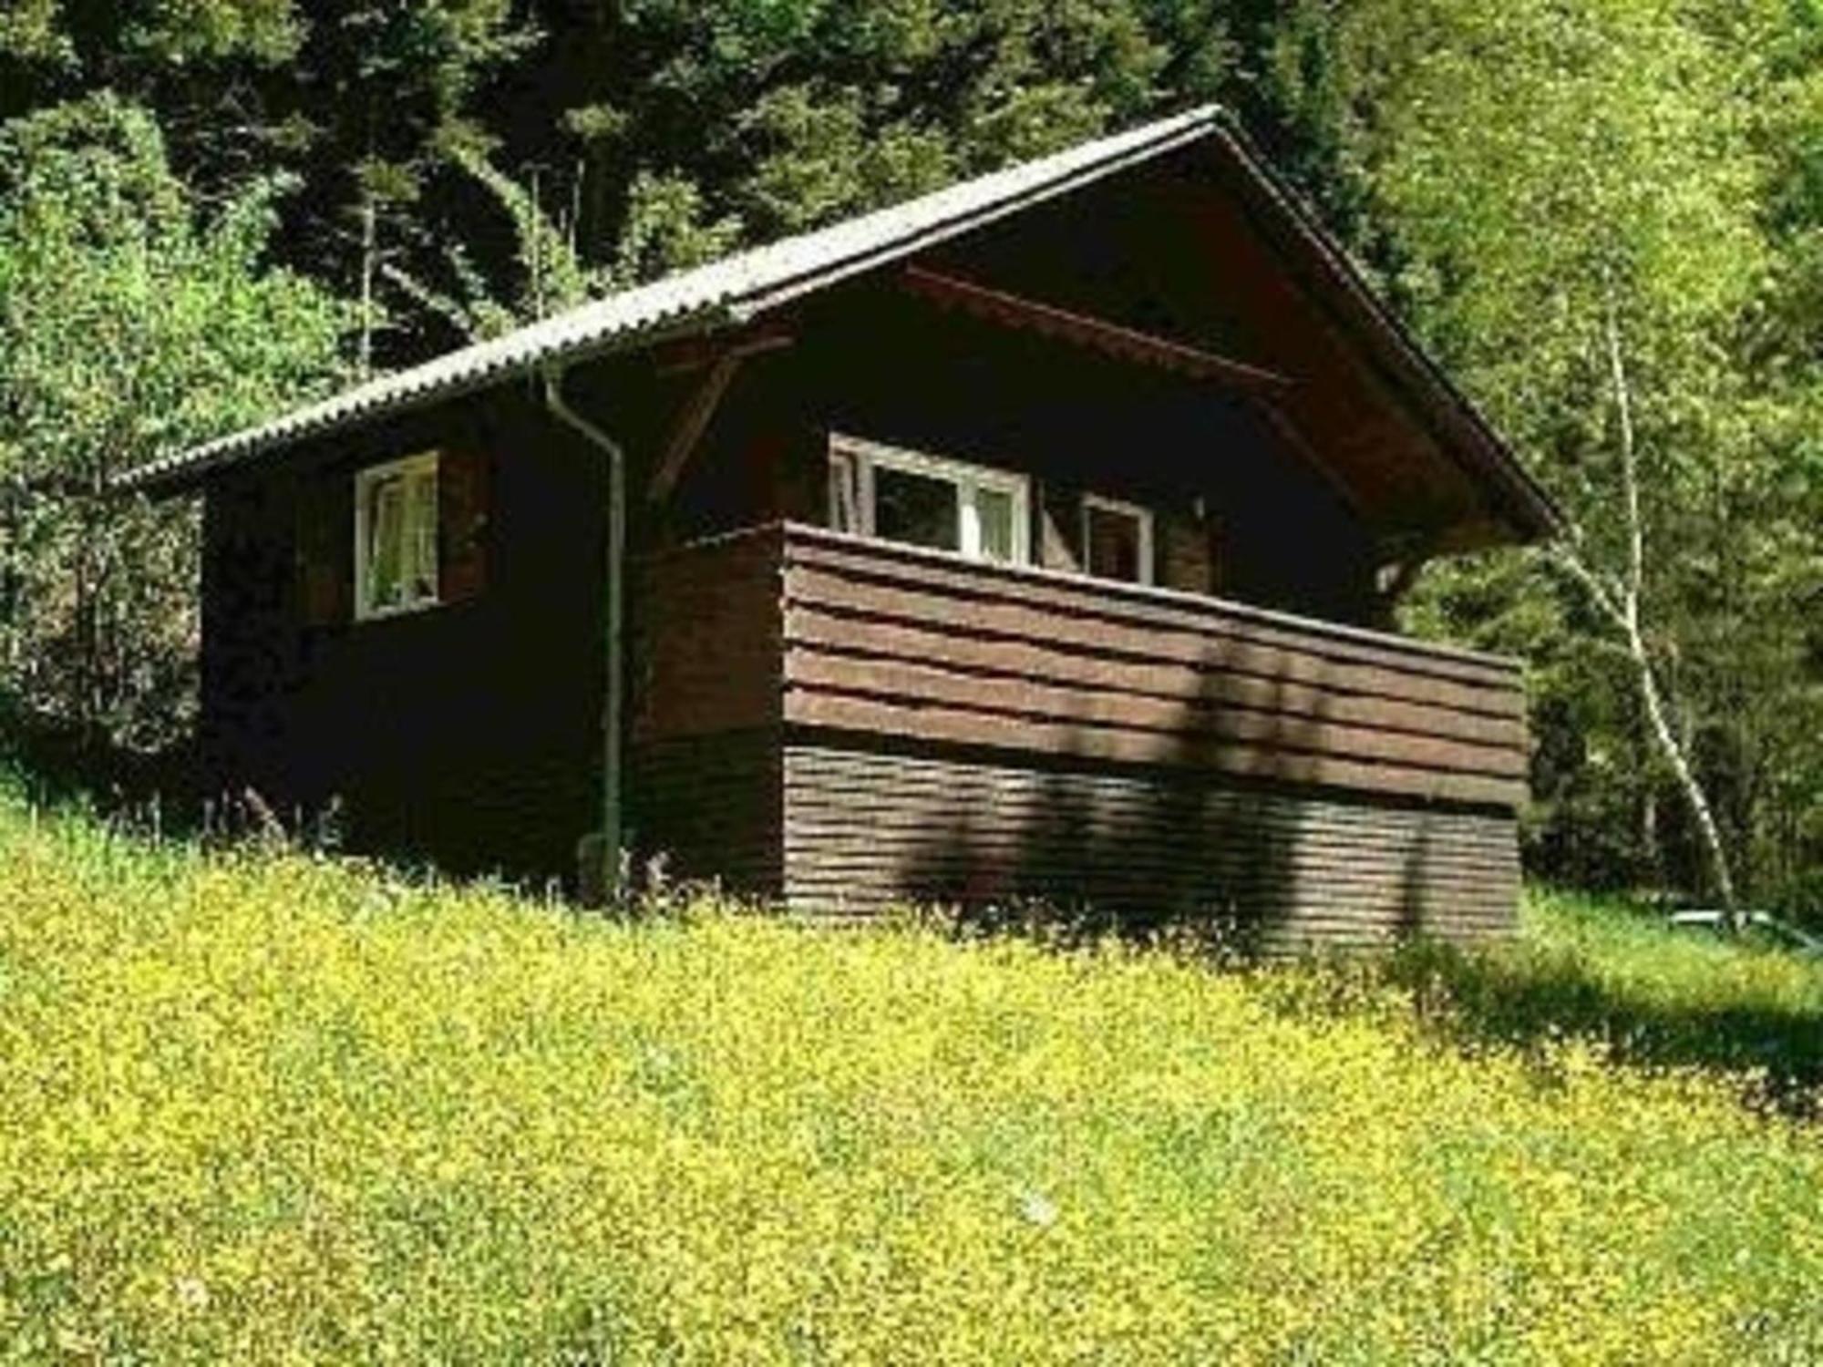
[[[1519,665],[1389,622],[1553,509],[1218,111],[128,483],[204,499],[210,782],[361,849],[1271,944],[1513,919]]]

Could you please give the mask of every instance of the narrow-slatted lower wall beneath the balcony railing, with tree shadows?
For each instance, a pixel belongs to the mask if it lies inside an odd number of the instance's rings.
[[[829,744],[784,753],[784,886],[804,911],[1041,899],[1234,922],[1263,948],[1511,926],[1511,813]]]

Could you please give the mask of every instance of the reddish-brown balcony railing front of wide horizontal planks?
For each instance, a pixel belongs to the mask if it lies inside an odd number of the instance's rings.
[[[1517,667],[1216,600],[784,541],[784,720],[1515,807]]]

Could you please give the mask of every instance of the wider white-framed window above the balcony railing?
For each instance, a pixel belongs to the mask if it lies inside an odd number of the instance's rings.
[[[1032,561],[1030,485],[984,465],[829,437],[829,525],[997,565]]]

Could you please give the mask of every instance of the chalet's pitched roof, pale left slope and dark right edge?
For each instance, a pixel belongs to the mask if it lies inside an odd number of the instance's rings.
[[[769,308],[968,233],[997,219],[1105,180],[1179,148],[1209,142],[1240,170],[1303,264],[1318,273],[1376,357],[1447,448],[1495,490],[1515,527],[1550,536],[1560,516],[1477,408],[1367,286],[1296,191],[1216,106],[1159,118],[1127,133],[964,180],[891,208],[740,252],[695,270],[463,346],[383,375],[270,423],[188,450],[168,452],[118,479],[128,490],[173,492],[210,472],[297,441],[379,421],[438,399],[487,388],[571,361],[634,350],[667,337],[738,326]]]

